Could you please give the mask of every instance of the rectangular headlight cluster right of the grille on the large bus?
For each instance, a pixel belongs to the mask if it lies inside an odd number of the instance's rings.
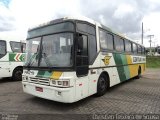
[[[70,86],[70,81],[68,79],[65,80],[53,80],[50,79],[50,85],[52,86],[57,86],[57,87],[69,87]]]

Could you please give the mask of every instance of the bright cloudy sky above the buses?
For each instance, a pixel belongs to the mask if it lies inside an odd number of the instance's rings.
[[[160,45],[160,0],[0,0],[0,39],[26,39],[30,27],[64,16],[86,16],[144,45]]]

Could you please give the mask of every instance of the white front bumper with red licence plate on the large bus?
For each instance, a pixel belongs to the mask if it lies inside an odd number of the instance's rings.
[[[73,103],[74,88],[58,88],[53,86],[45,86],[22,81],[23,91],[25,93],[63,103]]]

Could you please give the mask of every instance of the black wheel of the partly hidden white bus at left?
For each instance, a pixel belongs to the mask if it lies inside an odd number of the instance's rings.
[[[22,73],[23,69],[21,67],[17,67],[13,70],[12,80],[22,81]]]

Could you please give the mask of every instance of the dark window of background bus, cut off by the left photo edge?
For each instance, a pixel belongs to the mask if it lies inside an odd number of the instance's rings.
[[[0,58],[4,57],[6,53],[6,41],[0,40]]]

